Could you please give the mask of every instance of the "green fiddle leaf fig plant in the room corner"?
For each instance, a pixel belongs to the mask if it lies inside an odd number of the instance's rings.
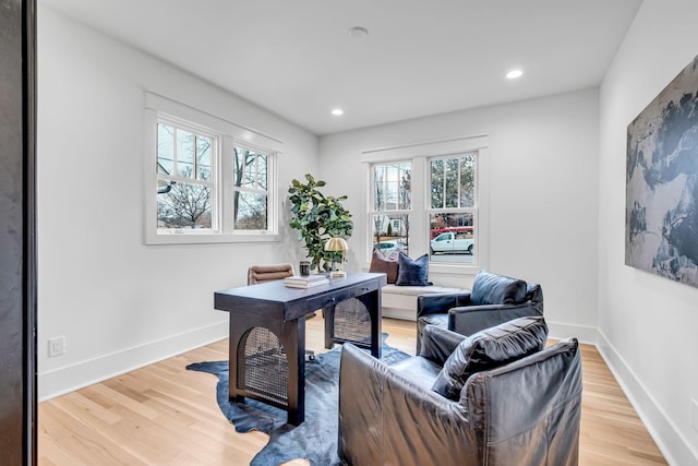
[[[310,174],[305,175],[305,181],[291,181],[288,190],[291,202],[289,225],[300,232],[311,270],[327,272],[333,261],[341,261],[341,251],[325,251],[325,243],[330,238],[351,236],[351,213],[341,205],[347,200],[346,195],[334,198],[323,194],[320,188],[326,184],[325,181],[315,180]]]

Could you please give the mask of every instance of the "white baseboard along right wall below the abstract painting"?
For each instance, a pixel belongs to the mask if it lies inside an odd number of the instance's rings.
[[[597,348],[670,465],[698,465],[698,452],[682,435],[603,334]]]

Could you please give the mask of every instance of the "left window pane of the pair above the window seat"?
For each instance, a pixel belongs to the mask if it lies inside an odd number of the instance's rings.
[[[408,253],[412,208],[411,163],[375,164],[372,167],[373,208],[369,214],[373,248],[384,253]]]

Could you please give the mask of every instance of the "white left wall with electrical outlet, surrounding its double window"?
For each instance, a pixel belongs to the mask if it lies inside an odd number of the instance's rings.
[[[40,9],[39,399],[227,336],[214,290],[244,285],[253,263],[300,256],[286,223],[270,244],[144,244],[146,88],[282,140],[279,199],[317,169],[309,132]],[[67,353],[49,359],[56,336]]]

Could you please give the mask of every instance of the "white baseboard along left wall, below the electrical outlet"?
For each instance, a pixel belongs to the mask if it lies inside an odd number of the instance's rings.
[[[227,337],[228,320],[38,373],[38,401],[45,402]]]

